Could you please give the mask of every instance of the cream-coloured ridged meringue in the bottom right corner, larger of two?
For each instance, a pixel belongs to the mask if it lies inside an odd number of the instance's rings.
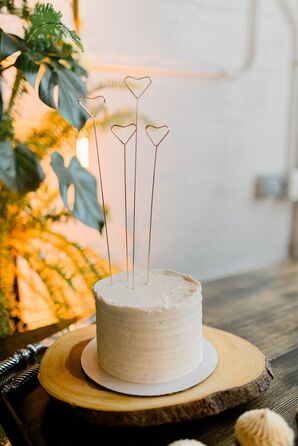
[[[292,446],[294,431],[287,422],[270,409],[249,410],[235,426],[241,446]]]

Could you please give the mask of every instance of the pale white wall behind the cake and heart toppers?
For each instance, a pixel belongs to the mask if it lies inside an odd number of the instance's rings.
[[[70,19],[65,2],[54,3]],[[82,38],[92,63],[194,72],[235,70],[245,59],[249,0],[85,3]],[[257,175],[287,169],[291,66],[290,34],[278,0],[260,4],[256,59],[239,78],[192,79],[147,70],[153,84],[141,111],[171,129],[158,160],[152,247],[156,267],[206,280],[287,256],[289,203],[254,198]],[[115,73],[111,66],[104,74],[92,73],[92,80],[135,72],[125,68]],[[126,91],[109,92],[106,98],[112,109],[133,106]],[[123,267],[122,152],[106,135],[102,153],[112,259]],[[153,150],[143,130],[139,155],[137,264],[144,267]],[[91,158],[96,172],[94,153]],[[72,234],[105,252],[93,230],[75,225]]]

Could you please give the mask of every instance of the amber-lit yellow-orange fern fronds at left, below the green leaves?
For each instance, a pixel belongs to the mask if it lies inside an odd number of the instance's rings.
[[[43,183],[24,196],[7,189],[0,193],[0,336],[26,328],[20,294],[24,286],[31,307],[43,300],[51,317],[90,313],[92,286],[108,274],[108,265],[54,230],[53,224],[71,219],[57,207],[57,192]]]

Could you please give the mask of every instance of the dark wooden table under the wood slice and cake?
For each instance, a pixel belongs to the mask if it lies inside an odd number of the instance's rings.
[[[271,360],[275,379],[261,398],[204,420],[150,428],[108,428],[75,420],[40,387],[11,401],[21,429],[34,445],[127,444],[165,446],[196,438],[208,446],[235,444],[234,424],[246,410],[269,407],[295,429],[298,406],[298,262],[285,262],[203,285],[204,323],[257,345]],[[57,331],[51,326],[0,340],[0,359]],[[2,412],[0,423],[11,415]],[[9,427],[9,425],[8,425]],[[16,432],[17,433],[17,432]],[[109,437],[109,441],[103,439]],[[96,443],[95,443],[95,440]],[[17,442],[13,442],[17,444]],[[23,442],[19,444],[24,445]]]

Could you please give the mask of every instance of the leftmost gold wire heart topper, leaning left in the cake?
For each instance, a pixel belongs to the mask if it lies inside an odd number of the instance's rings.
[[[105,235],[106,235],[106,242],[107,242],[109,272],[110,272],[110,280],[111,280],[111,285],[112,285],[113,284],[113,278],[112,278],[112,264],[111,264],[111,254],[110,254],[110,243],[109,243],[106,206],[105,206],[103,181],[102,181],[102,173],[101,173],[101,165],[100,165],[99,144],[98,144],[98,138],[97,138],[96,120],[95,120],[95,116],[81,102],[81,99],[91,99],[91,100],[101,99],[102,100],[102,103],[100,105],[100,108],[101,108],[104,105],[104,103],[105,103],[105,98],[103,96],[95,96],[95,97],[92,97],[92,98],[88,97],[88,96],[80,96],[78,98],[78,103],[88,113],[90,118],[92,118],[92,122],[93,122],[93,133],[94,133],[94,141],[95,141],[96,155],[97,155],[97,167],[98,167],[98,175],[99,175],[99,182],[100,182],[100,194],[101,194],[101,202],[102,202],[103,218],[104,218],[104,227],[105,227]]]

